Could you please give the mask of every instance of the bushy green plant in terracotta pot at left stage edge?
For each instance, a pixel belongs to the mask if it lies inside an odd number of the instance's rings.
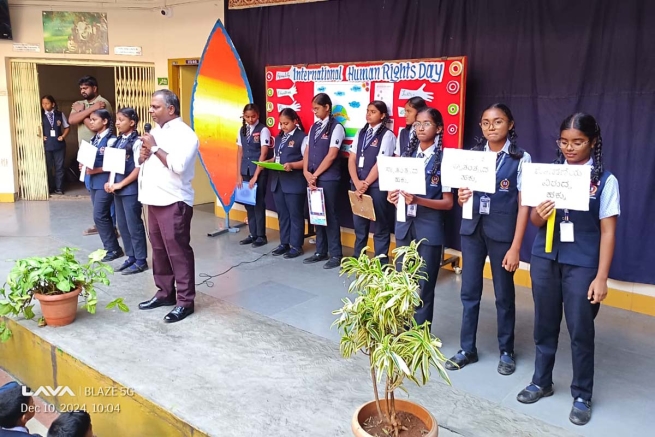
[[[2,287],[4,300],[0,301],[0,316],[22,314],[26,319],[33,319],[32,299],[36,298],[43,313],[40,326],[68,325],[75,320],[80,295],[85,300],[82,308],[95,314],[98,303],[95,285],[109,285],[107,275],[113,273],[113,269],[101,261],[107,251],[91,253],[86,264],[80,263],[74,252],[74,249],[64,247],[59,255],[17,260]],[[107,305],[107,308],[114,307],[129,311],[122,298]],[[0,342],[10,337],[11,331],[3,322],[0,324]]]

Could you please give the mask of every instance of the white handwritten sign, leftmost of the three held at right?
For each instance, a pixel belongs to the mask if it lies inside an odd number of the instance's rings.
[[[380,191],[425,194],[425,163],[417,158],[378,156]]]

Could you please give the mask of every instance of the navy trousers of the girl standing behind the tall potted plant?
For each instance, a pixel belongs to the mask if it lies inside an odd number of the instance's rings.
[[[416,235],[416,228],[412,225],[405,238],[396,238],[396,246],[409,246],[412,240],[420,240],[421,238],[420,235]],[[434,317],[434,288],[437,286],[437,276],[441,267],[441,246],[428,246],[425,243],[424,241],[418,247],[418,254],[425,261],[421,270],[428,276],[427,280],[421,280],[419,282],[419,294],[423,302],[421,306],[416,308],[416,312],[414,313],[414,320],[419,325],[426,321],[432,324]],[[400,270],[399,263],[397,263],[396,268]]]

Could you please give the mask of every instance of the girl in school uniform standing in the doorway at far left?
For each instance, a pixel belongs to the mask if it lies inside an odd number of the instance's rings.
[[[70,131],[66,116],[57,108],[55,98],[41,97],[43,115],[43,144],[48,170],[48,187],[51,193],[64,194],[64,159],[66,158],[66,137]]]

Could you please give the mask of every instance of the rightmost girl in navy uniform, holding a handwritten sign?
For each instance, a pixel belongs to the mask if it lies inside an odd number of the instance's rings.
[[[553,394],[553,365],[562,321],[571,336],[573,407],[569,420],[591,420],[594,384],[594,319],[607,296],[607,277],[621,214],[619,183],[603,166],[600,127],[591,115],[573,114],[562,122],[556,163],[591,166],[589,211],[554,210],[550,200],[532,209],[539,228],[530,261],[537,346],[532,382],[517,399],[531,404]],[[546,220],[555,214],[553,249],[546,253]]]

